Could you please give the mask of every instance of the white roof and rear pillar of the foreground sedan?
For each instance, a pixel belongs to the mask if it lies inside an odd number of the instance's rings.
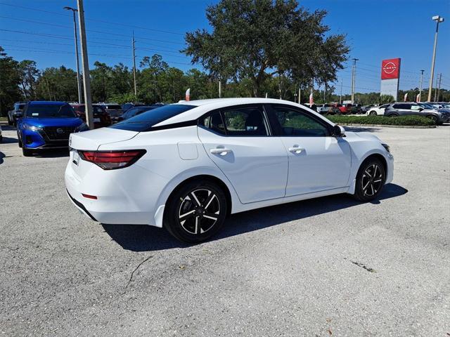
[[[308,112],[316,115],[317,117],[323,119],[328,124],[330,121],[323,117],[321,114],[318,114],[314,110],[311,110],[309,107],[305,107],[304,105],[300,105],[289,100],[277,100],[275,98],[213,98],[210,100],[189,100],[182,101],[179,103],[175,103],[177,105],[191,105],[193,109],[187,110],[185,112],[181,112],[181,114],[177,114],[174,117],[166,119],[155,126],[163,126],[174,123],[181,123],[183,121],[192,121],[194,119],[198,119],[203,116],[203,114],[210,112],[211,110],[221,109],[224,107],[231,107],[233,105],[247,105],[247,104],[283,104],[283,105],[292,105],[294,107],[301,107]]]

